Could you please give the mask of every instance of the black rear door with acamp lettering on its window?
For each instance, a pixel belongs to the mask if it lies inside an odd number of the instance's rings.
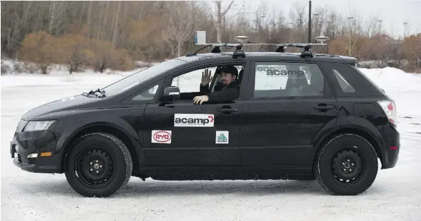
[[[242,110],[242,165],[310,165],[337,100],[315,62],[252,62]]]

